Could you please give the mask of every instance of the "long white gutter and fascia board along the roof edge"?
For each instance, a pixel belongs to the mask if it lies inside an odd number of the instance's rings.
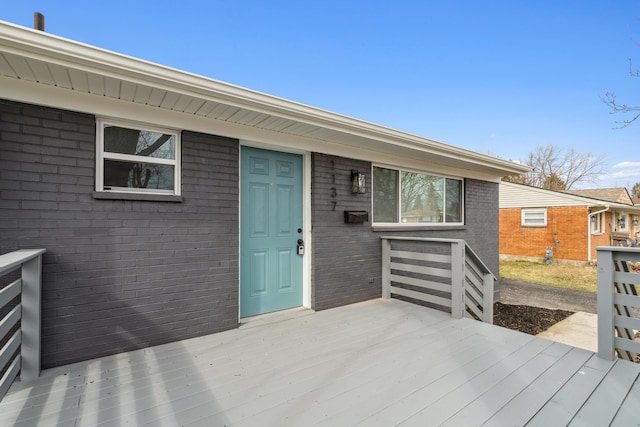
[[[503,174],[524,173],[526,166],[422,138],[359,119],[332,113],[283,98],[252,91],[195,74],[117,54],[41,31],[0,21],[1,49],[16,55],[73,67],[132,83],[149,85],[186,96],[247,108],[302,123],[372,139],[400,148],[416,150],[493,168]],[[495,180],[495,176],[492,180]]]

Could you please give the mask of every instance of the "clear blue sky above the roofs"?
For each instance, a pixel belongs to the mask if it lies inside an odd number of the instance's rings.
[[[0,19],[504,159],[538,145],[640,182],[639,1],[3,0]]]

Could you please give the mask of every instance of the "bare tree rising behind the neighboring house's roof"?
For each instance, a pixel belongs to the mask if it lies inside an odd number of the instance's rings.
[[[604,158],[580,154],[573,148],[563,151],[557,145],[538,146],[526,162],[531,172],[505,180],[549,190],[570,190],[578,183],[595,182],[604,173]]]

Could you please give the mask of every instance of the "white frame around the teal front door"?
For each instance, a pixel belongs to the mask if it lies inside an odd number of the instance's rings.
[[[302,156],[302,239],[304,240],[304,255],[302,257],[302,307],[311,308],[311,153],[308,151],[292,150],[273,144],[265,144],[256,141],[240,140],[238,150],[238,319],[240,317],[240,285],[242,283],[241,233],[242,233],[242,147],[259,148],[263,150],[279,151],[281,153],[298,154]],[[276,312],[277,313],[277,312]]]

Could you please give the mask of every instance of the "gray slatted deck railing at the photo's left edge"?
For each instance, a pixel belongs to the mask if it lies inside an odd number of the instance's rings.
[[[44,249],[23,249],[0,255],[0,277],[20,270],[16,280],[0,289],[0,399],[18,372],[22,380],[40,375],[43,253]]]

